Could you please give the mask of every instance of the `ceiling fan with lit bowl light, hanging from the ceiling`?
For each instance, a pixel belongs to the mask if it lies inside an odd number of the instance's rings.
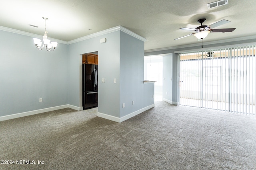
[[[207,35],[211,32],[213,32],[213,33],[224,33],[224,32],[232,32],[236,29],[236,28],[212,29],[212,28],[218,27],[220,25],[223,25],[225,23],[229,23],[230,21],[228,21],[228,20],[221,20],[221,21],[213,23],[212,25],[209,25],[209,26],[208,25],[203,25],[204,21],[206,21],[205,18],[198,20],[197,22],[201,23],[201,25],[199,27],[196,27],[195,29],[186,28],[186,27],[180,28],[180,29],[185,29],[185,30],[188,30],[188,31],[195,31],[195,33],[185,35],[183,37],[179,37],[179,38],[176,38],[176,39],[181,39],[181,38],[184,38],[184,37],[188,37],[190,35],[194,35],[195,37],[197,37],[198,39],[202,39],[202,41],[203,41],[203,39],[205,37],[207,37]],[[174,40],[176,40],[176,39],[174,39]]]

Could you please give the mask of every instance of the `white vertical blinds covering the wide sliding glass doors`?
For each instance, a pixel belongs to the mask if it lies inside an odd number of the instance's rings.
[[[179,55],[181,105],[256,115],[255,45]]]

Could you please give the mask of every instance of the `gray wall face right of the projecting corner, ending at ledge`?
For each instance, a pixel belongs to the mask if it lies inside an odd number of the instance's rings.
[[[152,84],[144,84],[144,42],[120,33],[120,117],[154,104]],[[154,88],[154,86],[153,86]],[[132,105],[134,101],[134,105]],[[122,104],[125,107],[122,107]]]

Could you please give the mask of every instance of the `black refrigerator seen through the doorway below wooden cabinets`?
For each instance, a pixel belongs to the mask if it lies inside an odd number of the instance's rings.
[[[98,107],[98,65],[83,64],[83,107]]]

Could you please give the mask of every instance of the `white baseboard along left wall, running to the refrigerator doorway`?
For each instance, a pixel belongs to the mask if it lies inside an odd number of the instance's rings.
[[[30,115],[35,115],[35,114],[39,114],[39,113],[54,111],[54,110],[58,110],[58,109],[65,109],[65,108],[71,108],[71,109],[79,111],[83,107],[77,107],[77,106],[73,106],[70,104],[66,104],[66,105],[62,105],[62,106],[55,106],[55,107],[48,107],[45,109],[38,109],[38,110],[26,111],[23,113],[16,113],[16,114],[12,114],[12,115],[1,116],[0,121],[15,119],[18,117],[30,116]]]

